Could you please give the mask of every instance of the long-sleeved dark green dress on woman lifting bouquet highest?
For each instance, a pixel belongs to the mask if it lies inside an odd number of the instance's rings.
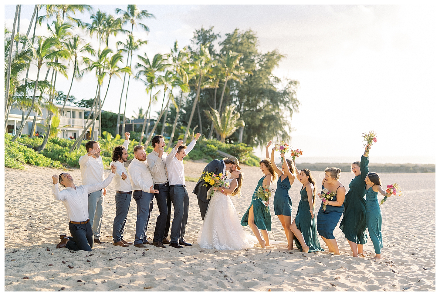
[[[344,200],[344,217],[342,217],[342,232],[350,242],[363,245],[367,242],[367,202],[365,201],[365,177],[368,174],[368,157],[361,156],[360,172],[348,187]]]

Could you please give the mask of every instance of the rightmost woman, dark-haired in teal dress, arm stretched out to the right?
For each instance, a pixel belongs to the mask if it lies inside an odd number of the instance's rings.
[[[390,196],[382,189],[381,178],[377,173],[369,173],[365,177],[365,197],[367,199],[367,226],[376,256],[371,259],[382,259],[382,215],[378,202],[378,192],[386,197]]]

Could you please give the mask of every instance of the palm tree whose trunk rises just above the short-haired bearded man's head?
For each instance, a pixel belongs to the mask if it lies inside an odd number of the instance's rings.
[[[144,56],[145,57],[138,54],[138,58],[140,61],[136,63],[135,68],[140,70],[136,73],[136,78],[139,78],[140,76],[145,77],[145,79],[142,79],[142,81],[147,86],[147,88],[145,89],[147,91],[147,94],[150,93],[150,101],[148,103],[147,112],[145,113],[146,116],[143,122],[142,133],[140,136],[139,143],[142,142],[145,134],[145,126],[147,124],[147,113],[151,110],[151,97],[153,94],[153,88],[157,86],[156,73],[165,70],[165,68],[169,66],[163,54],[155,54],[153,60],[151,61],[148,58],[147,54],[144,54]],[[148,116],[147,133],[149,128],[150,128],[150,116]]]

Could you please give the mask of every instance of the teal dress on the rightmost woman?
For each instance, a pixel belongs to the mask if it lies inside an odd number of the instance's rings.
[[[364,189],[365,190],[365,189]],[[365,197],[367,199],[367,226],[371,241],[374,245],[374,252],[381,253],[383,248],[382,243],[382,214],[378,202],[378,193],[373,190],[373,187],[365,190]]]

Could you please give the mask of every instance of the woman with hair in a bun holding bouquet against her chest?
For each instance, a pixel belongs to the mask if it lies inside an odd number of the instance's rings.
[[[318,229],[319,235],[321,235],[329,248],[329,253],[334,252],[335,255],[340,255],[333,231],[344,211],[345,187],[340,181],[338,181],[339,174],[341,173],[340,169],[329,167],[326,168],[324,173],[326,174],[326,177],[323,179],[323,189],[336,192],[336,196],[332,197],[330,200],[321,202],[318,217],[316,218],[316,228]],[[320,196],[321,195],[319,194],[319,197]],[[327,207],[325,211],[323,211],[323,205],[326,205]]]

